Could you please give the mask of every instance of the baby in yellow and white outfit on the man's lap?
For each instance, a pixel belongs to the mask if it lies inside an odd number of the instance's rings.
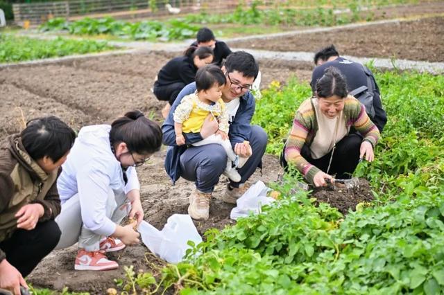
[[[223,174],[232,181],[239,182],[241,181],[241,175],[239,175],[236,168],[241,168],[241,165],[239,165],[239,157],[234,154],[228,139],[228,114],[225,103],[221,98],[221,89],[225,82],[225,75],[218,66],[209,65],[198,69],[196,73],[196,92],[182,98],[180,105],[174,111],[174,131],[176,132],[177,145],[184,145],[185,137],[183,133],[200,132],[205,118],[208,114],[211,114],[213,119],[218,121],[219,129],[215,134],[193,143],[193,145],[200,146],[211,143],[222,145],[228,156],[227,166]],[[241,161],[241,164],[245,162]]]

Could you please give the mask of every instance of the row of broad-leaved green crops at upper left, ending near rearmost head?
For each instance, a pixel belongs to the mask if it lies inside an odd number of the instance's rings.
[[[40,26],[40,30],[67,30],[74,35],[108,34],[128,39],[148,39],[160,41],[180,40],[195,37],[199,27],[187,24],[179,19],[171,19],[167,23],[161,21],[137,21],[134,23],[105,17],[103,19],[80,19],[66,21],[63,18],[50,19]]]

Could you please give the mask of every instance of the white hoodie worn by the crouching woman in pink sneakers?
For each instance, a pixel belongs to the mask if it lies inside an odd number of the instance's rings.
[[[134,167],[126,170],[125,185],[121,164],[111,151],[110,130],[110,125],[80,129],[57,181],[62,206],[78,193],[83,225],[107,236],[116,230],[116,224],[105,215],[108,191],[126,194],[140,189]]]

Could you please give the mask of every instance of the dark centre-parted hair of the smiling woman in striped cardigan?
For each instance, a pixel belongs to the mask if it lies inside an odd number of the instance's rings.
[[[324,75],[316,81],[316,95],[319,98],[347,97],[347,82],[339,69],[333,66],[325,69]]]

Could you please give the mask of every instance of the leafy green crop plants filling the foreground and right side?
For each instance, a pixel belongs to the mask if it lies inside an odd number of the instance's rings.
[[[314,206],[298,177],[275,185],[282,199],[162,269],[151,290],[180,294],[442,294],[444,289],[444,77],[377,73],[388,123],[377,159],[357,173],[370,179],[374,204],[346,216]],[[255,123],[277,154],[307,84],[277,82],[257,101]],[[196,256],[196,253],[200,253]],[[137,278],[141,278],[139,274]],[[133,278],[133,282],[136,278]],[[148,282],[149,281],[149,282]]]

